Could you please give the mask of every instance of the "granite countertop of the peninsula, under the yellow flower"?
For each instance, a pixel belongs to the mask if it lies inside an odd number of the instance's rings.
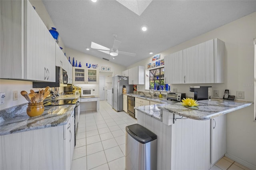
[[[198,110],[186,108],[182,106],[180,102],[176,101],[168,101],[168,103],[156,105],[157,109],[159,109],[156,111],[154,111],[154,109],[156,109],[154,105],[146,107],[134,107],[134,109],[141,111],[142,113],[146,113],[159,121],[162,121],[162,113],[160,110],[165,110],[169,113],[180,115],[189,119],[208,120],[250,106],[253,103],[246,101],[228,101],[223,99],[211,99],[210,101],[201,100],[197,102],[199,104]]]

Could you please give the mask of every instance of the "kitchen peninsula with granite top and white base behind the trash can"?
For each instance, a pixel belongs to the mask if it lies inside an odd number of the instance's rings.
[[[212,99],[199,109],[173,101],[135,107],[138,124],[157,135],[157,169],[210,169],[226,153],[226,113],[252,102]]]

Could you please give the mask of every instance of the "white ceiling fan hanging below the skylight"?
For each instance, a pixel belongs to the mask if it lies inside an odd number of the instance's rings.
[[[117,35],[113,34],[114,37],[114,44],[112,48],[107,48],[104,47],[103,45],[100,45],[98,43],[92,42],[91,43],[91,48],[93,49],[97,49],[98,51],[101,51],[103,53],[107,53],[110,54],[111,56],[113,56],[113,59],[115,59],[114,57],[118,55],[118,53],[120,54],[124,54],[124,55],[130,55],[130,56],[135,56],[135,53],[128,53],[128,52],[124,52],[124,51],[118,51],[118,47],[121,44],[120,41],[116,40]]]

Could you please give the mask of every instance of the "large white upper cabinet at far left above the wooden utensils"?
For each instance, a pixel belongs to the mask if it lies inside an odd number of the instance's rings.
[[[54,82],[55,41],[30,2],[1,1],[0,8],[0,78]]]

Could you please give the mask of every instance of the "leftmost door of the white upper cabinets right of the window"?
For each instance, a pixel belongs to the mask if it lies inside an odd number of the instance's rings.
[[[182,50],[164,57],[164,79],[166,84],[181,84],[183,79]]]

